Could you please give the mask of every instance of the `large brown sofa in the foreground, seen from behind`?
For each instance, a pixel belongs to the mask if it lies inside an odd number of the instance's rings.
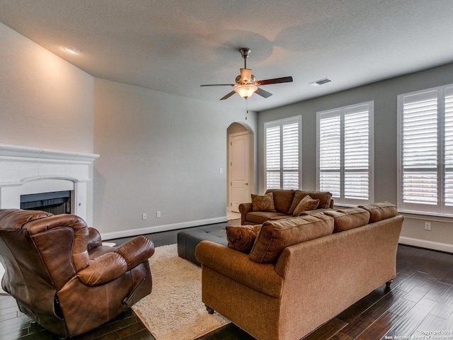
[[[202,300],[258,340],[301,339],[389,285],[402,223],[394,205],[376,203],[227,227],[229,246],[202,241],[196,248]],[[250,254],[232,248],[246,249],[244,240]]]

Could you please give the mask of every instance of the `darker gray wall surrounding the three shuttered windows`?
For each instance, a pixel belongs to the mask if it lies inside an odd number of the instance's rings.
[[[265,122],[302,115],[302,187],[311,190],[316,188],[316,112],[374,101],[374,201],[388,200],[396,204],[396,97],[398,94],[452,83],[453,64],[447,64],[258,113],[258,186],[260,192],[264,191],[265,185],[263,158],[263,126]],[[328,84],[324,86],[328,86]],[[425,220],[433,222],[432,231],[425,231],[423,227]],[[442,250],[453,251],[452,222],[452,219],[437,217],[406,217],[402,235],[406,237],[407,243],[413,242],[414,245],[430,247],[439,246],[443,247]]]

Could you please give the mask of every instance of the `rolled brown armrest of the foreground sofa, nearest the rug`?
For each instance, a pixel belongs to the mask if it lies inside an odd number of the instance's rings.
[[[195,256],[203,266],[221,273],[249,288],[273,297],[280,297],[283,278],[275,272],[274,263],[256,263],[248,254],[222,244],[202,241],[195,249]]]

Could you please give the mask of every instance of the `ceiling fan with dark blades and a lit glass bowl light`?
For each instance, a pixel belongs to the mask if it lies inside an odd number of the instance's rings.
[[[247,58],[250,54],[250,48],[241,48],[239,52],[241,52],[243,57],[243,69],[241,69],[241,74],[236,77],[236,84],[205,84],[200,86],[234,86],[233,91],[220,98],[221,101],[224,101],[236,93],[246,99],[252,96],[252,94],[258,94],[264,98],[268,98],[272,96],[272,94],[260,89],[258,86],[290,83],[292,81],[292,77],[256,80],[255,76],[252,74],[252,70],[247,68]]]

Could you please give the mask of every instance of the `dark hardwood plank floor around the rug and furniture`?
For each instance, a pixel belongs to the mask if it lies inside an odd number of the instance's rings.
[[[147,236],[161,246],[176,243],[177,233],[175,230]],[[111,242],[122,244],[127,239]],[[391,290],[386,290],[385,285],[379,287],[304,340],[411,339],[411,336],[420,339],[423,336],[420,331],[432,332],[425,339],[453,339],[453,254],[400,245],[396,266],[397,276]],[[11,339],[58,339],[58,336],[30,323],[18,311],[12,297],[0,295],[0,340]],[[154,337],[134,312],[127,310],[108,324],[73,339],[154,340]],[[253,340],[253,337],[227,324],[199,340]]]

